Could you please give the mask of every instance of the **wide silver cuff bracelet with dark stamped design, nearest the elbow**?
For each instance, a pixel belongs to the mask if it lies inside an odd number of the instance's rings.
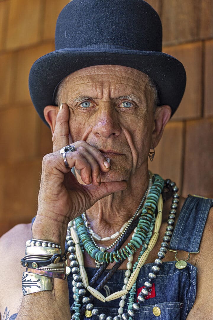
[[[51,291],[53,288],[53,278],[23,272],[22,291],[24,296],[39,291]]]

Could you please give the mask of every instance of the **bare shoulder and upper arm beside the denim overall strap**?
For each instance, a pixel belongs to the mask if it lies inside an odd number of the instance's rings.
[[[213,248],[213,207],[209,210],[208,218],[202,235],[200,253],[195,256],[195,266],[197,273],[197,293],[196,299],[187,320],[196,320],[204,317],[206,320],[212,319],[213,287],[212,280],[212,248]],[[204,292],[206,292],[204,294]],[[208,297],[208,299],[207,299]],[[209,301],[209,303],[208,303]]]

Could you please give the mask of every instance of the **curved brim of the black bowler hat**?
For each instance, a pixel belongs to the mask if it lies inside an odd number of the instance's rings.
[[[43,110],[54,105],[53,93],[63,78],[82,68],[109,64],[135,68],[150,76],[160,91],[160,105],[169,105],[174,114],[186,87],[185,69],[176,58],[153,51],[65,48],[42,56],[30,70],[30,96],[43,122],[48,125]]]

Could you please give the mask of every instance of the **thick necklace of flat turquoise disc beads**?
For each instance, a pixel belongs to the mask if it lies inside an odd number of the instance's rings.
[[[117,251],[106,252],[99,250],[88,235],[87,228],[84,225],[82,217],[80,216],[75,218],[77,232],[80,236],[84,249],[91,256],[91,258],[98,260],[100,263],[113,263],[114,261],[118,262],[125,260],[130,254],[136,252],[147,237],[148,229],[153,218],[155,217],[157,202],[163,190],[163,187],[164,180],[156,174],[155,181],[153,182],[153,185],[142,208],[141,217],[139,219],[139,223],[133,238],[124,248],[121,248]]]

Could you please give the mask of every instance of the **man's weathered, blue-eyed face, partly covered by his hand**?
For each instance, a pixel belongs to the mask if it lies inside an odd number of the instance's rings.
[[[146,167],[154,127],[147,75],[117,65],[84,68],[65,78],[59,97],[70,109],[70,143],[84,140],[110,159],[102,181],[128,180]]]

